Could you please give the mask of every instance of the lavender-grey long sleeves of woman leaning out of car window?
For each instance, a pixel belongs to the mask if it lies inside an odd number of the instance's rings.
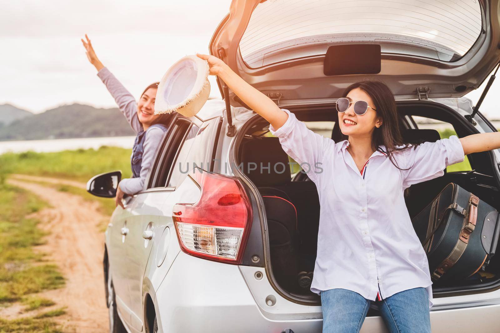
[[[142,129],[142,124],[137,117],[137,102],[135,98],[106,67],[100,69],[97,72],[97,76],[106,85],[107,90],[109,90],[116,104],[118,104],[119,110],[127,119],[130,127],[132,127],[135,133],[139,132]],[[151,169],[156,148],[161,142],[163,134],[164,131],[157,127],[150,127],[146,130],[140,175],[136,178],[121,179],[119,186],[123,192],[135,194],[142,190],[144,181]]]

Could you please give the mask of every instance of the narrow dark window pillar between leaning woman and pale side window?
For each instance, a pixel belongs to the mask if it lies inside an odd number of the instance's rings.
[[[182,138],[188,128],[193,128],[197,131],[197,126],[192,124],[187,118],[178,118],[170,127],[170,131],[163,138],[163,141],[158,148],[156,158],[151,168],[147,188],[163,187],[166,183],[166,178],[170,171],[173,158],[177,152]]]

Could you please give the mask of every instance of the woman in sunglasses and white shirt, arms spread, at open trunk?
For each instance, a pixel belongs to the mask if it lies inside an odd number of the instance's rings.
[[[337,100],[345,139],[334,142],[307,129],[217,57],[198,56],[208,61],[210,74],[269,121],[288,155],[321,164],[322,172],[308,176],[320,200],[311,290],[321,295],[323,332],[358,332],[372,302],[390,332],[430,332],[432,282],[403,190],[443,175],[465,154],[500,148],[500,133],[405,144],[389,88],[363,81]]]

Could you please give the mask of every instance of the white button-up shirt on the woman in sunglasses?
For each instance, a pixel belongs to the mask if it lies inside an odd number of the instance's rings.
[[[347,151],[347,140],[334,142],[308,129],[293,113],[278,129],[284,151],[316,184],[319,202],[317,256],[311,291],[343,288],[366,299],[424,287],[432,306],[428,261],[413,229],[403,190],[444,174],[464,158],[456,135],[393,154],[374,151],[361,172]],[[385,151],[383,146],[379,150]],[[309,169],[309,170],[308,170]]]

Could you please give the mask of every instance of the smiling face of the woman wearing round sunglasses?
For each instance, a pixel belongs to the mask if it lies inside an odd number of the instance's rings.
[[[337,112],[340,131],[348,136],[371,137],[375,126],[380,126],[382,124],[382,118],[378,116],[377,112],[374,110],[376,107],[371,97],[359,88],[350,90],[346,97],[350,99],[352,103],[345,112]],[[363,115],[354,113],[354,102],[357,100],[364,100],[368,103],[368,106],[370,106]]]

